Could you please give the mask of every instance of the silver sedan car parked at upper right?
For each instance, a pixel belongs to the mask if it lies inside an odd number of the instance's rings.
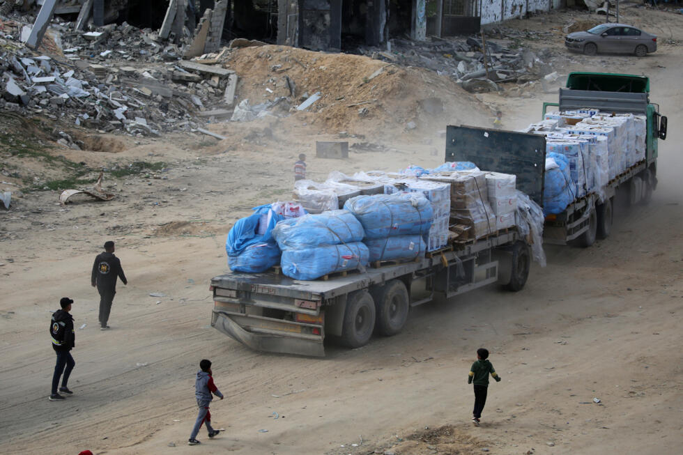
[[[569,33],[565,46],[586,55],[625,52],[643,57],[657,50],[657,36],[626,24],[600,24],[589,31]]]

